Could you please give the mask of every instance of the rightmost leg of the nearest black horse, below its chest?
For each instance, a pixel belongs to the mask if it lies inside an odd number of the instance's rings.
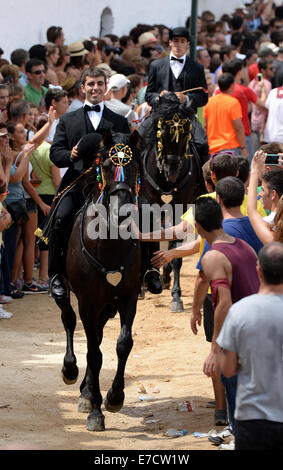
[[[133,293],[129,298],[119,299],[118,310],[120,313],[121,331],[117,340],[116,352],[118,367],[112,386],[104,400],[105,408],[112,413],[120,411],[124,403],[124,374],[127,359],[133,347],[132,325],[136,314],[138,293]]]

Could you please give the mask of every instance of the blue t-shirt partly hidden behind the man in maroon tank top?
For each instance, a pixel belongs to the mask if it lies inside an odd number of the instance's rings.
[[[247,216],[239,217],[236,219],[225,219],[223,220],[222,227],[224,231],[231,235],[231,237],[240,238],[247,242],[256,253],[262,248],[263,244],[256,236],[256,233],[250,223],[250,220]],[[197,269],[202,271],[201,260],[205,253],[209,250],[210,246],[205,240],[202,255],[196,266]]]

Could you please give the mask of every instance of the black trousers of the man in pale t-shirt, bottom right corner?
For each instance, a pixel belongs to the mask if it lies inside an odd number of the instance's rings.
[[[235,450],[283,450],[283,423],[235,420]]]

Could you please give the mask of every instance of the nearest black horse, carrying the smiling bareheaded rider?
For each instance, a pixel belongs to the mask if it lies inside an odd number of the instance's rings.
[[[99,372],[103,328],[117,311],[121,332],[117,340],[118,367],[104,400],[106,410],[119,411],[124,401],[124,371],[132,349],[132,324],[140,288],[140,243],[129,235],[129,214],[138,195],[138,135],[108,134],[89,173],[85,190],[88,201],[77,215],[67,251],[68,296],[56,300],[62,312],[67,345],[62,376],[65,383],[77,380],[73,349],[76,315],[70,291],[78,300],[87,337],[87,368],[80,386],[79,411],[89,413],[87,429],[103,431],[104,415]],[[87,191],[88,192],[88,191]],[[126,211],[122,208],[126,207]]]

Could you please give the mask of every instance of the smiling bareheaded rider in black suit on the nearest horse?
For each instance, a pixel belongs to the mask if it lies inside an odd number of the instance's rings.
[[[95,134],[97,138],[94,138],[94,142],[99,147],[101,135],[106,129],[130,133],[127,119],[104,106],[105,73],[97,68],[88,69],[83,73],[81,81],[82,90],[85,93],[84,106],[60,118],[50,149],[51,161],[59,168],[68,167],[58,192],[72,183],[92,163],[86,153],[83,155],[79,153],[79,142],[82,137],[89,133]],[[56,208],[49,236],[48,257],[50,292],[55,299],[62,299],[67,293],[65,282],[66,248],[75,214],[83,203],[82,188],[75,185],[62,198]]]

